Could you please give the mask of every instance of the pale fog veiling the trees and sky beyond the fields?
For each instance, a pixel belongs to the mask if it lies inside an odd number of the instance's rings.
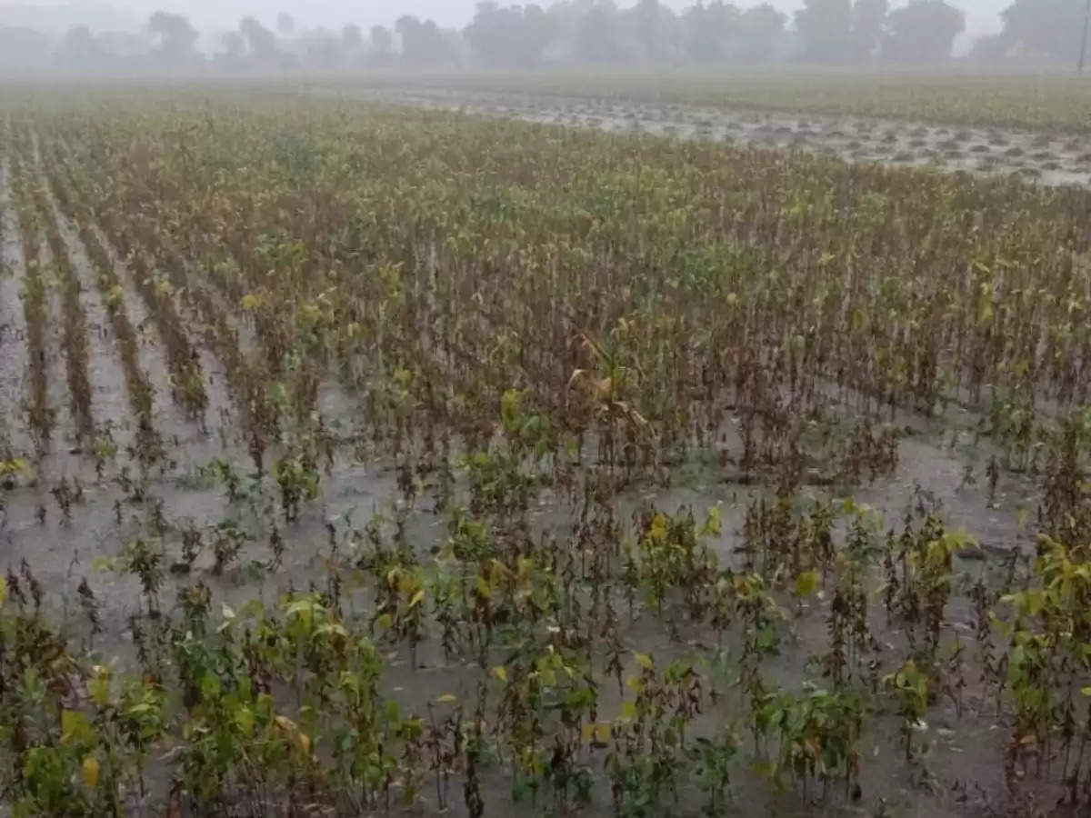
[[[0,71],[1067,65],[1079,53],[1084,8],[1086,0],[0,0]]]

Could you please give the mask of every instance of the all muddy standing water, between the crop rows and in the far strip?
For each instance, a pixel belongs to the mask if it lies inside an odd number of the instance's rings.
[[[599,107],[591,104],[540,100],[527,97],[452,97],[446,94],[416,94],[413,96],[384,96],[387,101],[455,108],[515,117],[537,122],[560,122],[587,128],[601,128],[618,132],[646,131],[663,135],[696,136],[719,141],[751,142],[767,146],[800,149],[835,149],[839,154],[860,159],[896,161],[901,151],[923,154],[939,151],[938,143],[957,142],[966,147],[969,159],[958,161],[980,163],[986,155],[1003,155],[1017,146],[1031,149],[1035,139],[1026,135],[999,135],[967,131],[952,134],[947,129],[899,124],[897,132],[884,123],[851,121],[801,120],[789,117],[730,115],[676,107],[651,108],[624,105]],[[894,125],[889,127],[894,129]],[[921,132],[923,135],[913,135]],[[923,147],[913,143],[923,141]],[[1004,144],[992,141],[1006,140]],[[859,144],[856,144],[859,143]],[[987,149],[975,152],[975,145]],[[855,145],[854,147],[852,145]],[[1065,155],[1057,159],[1072,180],[1077,173],[1087,173],[1077,146],[1062,140],[1051,140],[1034,148],[1039,153]],[[948,153],[954,153],[950,148]],[[1066,153],[1067,152],[1067,153]],[[914,154],[906,164],[931,164],[935,157]],[[886,158],[884,158],[886,157]],[[943,158],[943,156],[940,157]],[[1011,157],[1014,158],[1014,157]],[[944,159],[956,163],[954,157]],[[1034,161],[1046,161],[1034,160]],[[1050,160],[1053,161],[1053,160]],[[1088,164],[1091,170],[1091,164]],[[0,169],[2,170],[2,169]],[[1043,181],[1048,181],[1043,171]],[[1071,180],[1069,180],[1071,181]],[[26,365],[20,359],[22,312],[15,308],[22,269],[20,248],[14,239],[14,219],[11,217],[9,180],[0,172],[0,212],[4,221],[2,261],[9,274],[0,280],[0,311],[7,322],[0,354],[0,399],[8,429],[12,430],[15,444],[22,421],[22,377]],[[88,327],[106,326],[98,293],[93,286],[93,270],[87,253],[81,246],[79,231],[59,210],[55,213],[76,274],[83,284],[83,303],[88,316]],[[127,282],[124,305],[134,326],[148,323],[146,310],[133,294],[132,273],[124,261],[112,256],[120,280]],[[52,309],[60,312],[59,297],[53,293]],[[179,309],[184,305],[179,300]],[[191,316],[192,317],[192,316]],[[193,325],[197,322],[194,318]],[[49,362],[52,385],[50,402],[58,409],[59,430],[53,454],[37,465],[35,479],[8,491],[3,495],[4,518],[0,529],[0,569],[16,567],[23,562],[32,567],[45,588],[45,604],[50,615],[62,623],[65,634],[85,640],[87,647],[98,651],[104,661],[132,653],[130,617],[145,604],[135,578],[111,570],[109,558],[116,556],[123,543],[136,537],[154,537],[171,560],[180,558],[181,531],[188,526],[208,529],[225,520],[235,520],[245,530],[250,540],[239,557],[218,574],[214,570],[212,555],[203,553],[185,574],[169,574],[160,598],[170,608],[179,588],[196,579],[205,581],[214,591],[214,610],[221,604],[240,605],[251,599],[273,603],[289,589],[310,586],[323,588],[331,573],[339,573],[349,584],[353,573],[359,532],[376,513],[388,518],[399,514],[396,473],[393,464],[382,457],[357,457],[353,445],[356,400],[339,384],[323,384],[320,407],[331,428],[344,430],[338,455],[329,471],[323,474],[320,496],[307,506],[302,518],[283,527],[285,556],[279,567],[269,569],[273,554],[269,548],[272,525],[277,519],[276,486],[266,474],[257,479],[251,474],[244,442],[236,437],[231,398],[227,394],[223,366],[208,344],[199,342],[203,371],[209,377],[213,409],[207,417],[207,429],[187,419],[165,397],[167,376],[165,361],[154,329],[145,327],[141,365],[148,381],[156,386],[157,430],[167,447],[171,465],[148,474],[141,496],[127,489],[119,479],[122,471],[135,472],[137,465],[123,448],[117,459],[108,464],[101,480],[95,476],[88,453],[74,446],[72,419],[65,407],[69,404],[63,374],[63,361],[58,351],[60,323],[52,322],[49,334],[53,354]],[[123,384],[117,365],[115,341],[100,335],[92,342],[91,377],[95,387],[93,413],[96,425],[112,424],[123,437],[131,428],[123,399]],[[848,408],[842,407],[848,413]],[[834,412],[838,407],[832,407]],[[1017,546],[1024,553],[1033,544],[1033,534],[1021,525],[1021,517],[1038,503],[1038,489],[1029,476],[1005,473],[996,492],[990,496],[984,478],[985,464],[995,455],[987,441],[976,440],[981,416],[951,406],[938,418],[925,419],[911,413],[899,413],[891,419],[899,429],[899,460],[892,474],[859,486],[815,483],[805,486],[799,497],[801,504],[811,500],[843,498],[853,496],[859,503],[875,509],[875,533],[880,537],[888,528],[897,528],[908,510],[914,506],[938,509],[951,528],[964,527],[994,551]],[[729,447],[738,448],[727,436]],[[242,476],[243,497],[230,501],[223,484],[209,479],[202,466],[213,457],[224,457],[235,465]],[[719,506],[723,516],[722,534],[711,543],[721,563],[738,562],[736,546],[741,542],[742,526],[747,507],[760,496],[769,496],[771,486],[760,481],[740,481],[735,469],[724,466],[717,458],[691,458],[675,465],[670,486],[637,480],[614,501],[616,518],[632,533],[631,521],[640,510],[655,507],[675,512],[690,507],[700,519],[709,508]],[[79,478],[82,498],[72,507],[71,519],[64,519],[50,495],[59,481]],[[446,519],[434,509],[431,498],[433,486],[425,483],[416,506],[406,513],[406,532],[413,548],[425,560],[433,546],[446,537]],[[41,518],[45,510],[44,519]],[[156,520],[161,522],[161,526]],[[575,509],[554,489],[542,489],[533,501],[530,513],[533,528],[549,531],[559,538],[574,536]],[[988,552],[992,554],[994,552]],[[996,561],[985,558],[959,561],[960,576],[972,580],[996,569]],[[91,639],[76,604],[76,588],[86,578],[100,602],[104,633]],[[871,590],[878,596],[878,578]],[[370,614],[369,598],[364,591],[346,591],[349,604],[361,617]],[[829,598],[816,599],[793,610],[786,606],[779,626],[778,650],[764,670],[770,681],[786,689],[800,689],[805,678],[813,678],[813,658],[827,649],[826,616]],[[906,636],[897,627],[887,626],[885,616],[876,604],[871,625],[879,642],[875,655],[883,673],[900,664],[906,655]],[[948,611],[944,640],[947,648],[969,640],[971,633],[970,610],[964,597],[955,600]],[[738,645],[727,645],[727,652],[711,650],[716,635],[708,628],[692,627],[679,611],[670,608],[659,616],[637,605],[632,621],[624,628],[625,647],[651,653],[657,662],[694,655],[714,685],[728,690],[732,681],[732,661]],[[460,662],[447,663],[434,638],[419,648],[420,667],[408,666],[405,647],[388,647],[391,671],[386,677],[387,690],[410,709],[421,709],[425,702],[441,694],[459,698],[472,695],[478,673]],[[974,667],[966,671],[967,687],[963,700],[938,701],[930,714],[928,723],[921,726],[921,741],[930,748],[921,763],[904,763],[898,749],[898,720],[888,710],[876,711],[868,719],[868,729],[862,747],[862,793],[859,798],[844,794],[830,794],[820,799],[817,793],[801,797],[798,792],[776,792],[768,782],[747,770],[745,753],[741,756],[734,783],[734,806],[731,815],[767,816],[958,816],[984,814],[991,804],[1003,802],[1003,747],[1007,738],[1007,724],[997,719],[990,702],[980,700]],[[878,700],[878,699],[877,699]],[[620,707],[621,695],[609,684],[602,687],[602,717],[611,718]],[[729,721],[736,720],[743,708],[736,691],[709,703],[697,722],[698,732],[711,733]],[[745,732],[742,734],[745,742]],[[601,766],[601,757],[588,759]],[[509,807],[507,784],[497,781],[487,794],[490,805],[487,815],[535,815],[540,810],[523,804]],[[980,792],[976,787],[981,787]],[[460,799],[455,815],[461,815]],[[693,792],[680,797],[680,811],[695,815]],[[595,802],[586,815],[606,815],[609,793],[598,789]],[[431,814],[424,810],[425,814]],[[434,810],[432,810],[434,813]]]

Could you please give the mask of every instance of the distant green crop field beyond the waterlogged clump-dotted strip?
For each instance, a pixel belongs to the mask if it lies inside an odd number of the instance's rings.
[[[372,75],[339,82],[314,77],[346,92],[361,87],[443,88],[452,93],[585,97],[599,103],[638,103],[720,110],[918,120],[946,125],[1091,132],[1091,80],[1068,73],[940,74],[927,71],[842,71],[800,68],[759,71],[678,69],[662,71],[556,70]]]

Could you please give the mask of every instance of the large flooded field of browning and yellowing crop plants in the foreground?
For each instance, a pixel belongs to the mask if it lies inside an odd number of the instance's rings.
[[[10,814],[1091,806],[1091,192],[8,88],[0,253]]]

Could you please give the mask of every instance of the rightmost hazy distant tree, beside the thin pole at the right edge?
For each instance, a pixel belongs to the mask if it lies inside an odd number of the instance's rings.
[[[1076,62],[1083,33],[1084,0],[1015,0],[1000,12],[996,50]]]

